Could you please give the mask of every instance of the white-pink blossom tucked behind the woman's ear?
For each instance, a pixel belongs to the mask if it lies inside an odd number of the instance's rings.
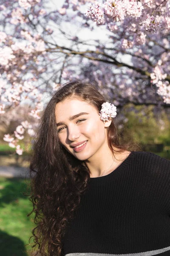
[[[100,119],[104,121],[108,121],[108,117],[115,117],[116,116],[116,106],[109,103],[109,102],[104,102],[102,104],[102,109],[100,110]]]

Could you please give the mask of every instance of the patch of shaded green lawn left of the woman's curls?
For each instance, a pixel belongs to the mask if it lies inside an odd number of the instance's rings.
[[[0,252],[3,256],[28,256],[28,244],[34,227],[33,216],[27,217],[32,205],[23,179],[0,178]]]

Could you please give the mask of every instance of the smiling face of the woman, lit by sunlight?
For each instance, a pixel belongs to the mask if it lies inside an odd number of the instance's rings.
[[[70,119],[72,116],[85,114]],[[81,99],[65,99],[59,102],[55,109],[58,137],[65,149],[79,160],[87,160],[96,154],[106,143],[107,131],[111,121],[103,122],[99,112],[93,106]],[[75,151],[71,146],[87,141],[81,151]]]

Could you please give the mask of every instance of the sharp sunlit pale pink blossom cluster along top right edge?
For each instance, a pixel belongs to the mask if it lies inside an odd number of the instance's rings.
[[[169,13],[170,2],[167,0],[106,0],[104,3],[90,3],[85,15],[97,25],[107,26],[113,22],[126,22],[130,18],[129,25],[138,23],[138,30],[147,35],[165,28],[164,20],[169,20]]]

